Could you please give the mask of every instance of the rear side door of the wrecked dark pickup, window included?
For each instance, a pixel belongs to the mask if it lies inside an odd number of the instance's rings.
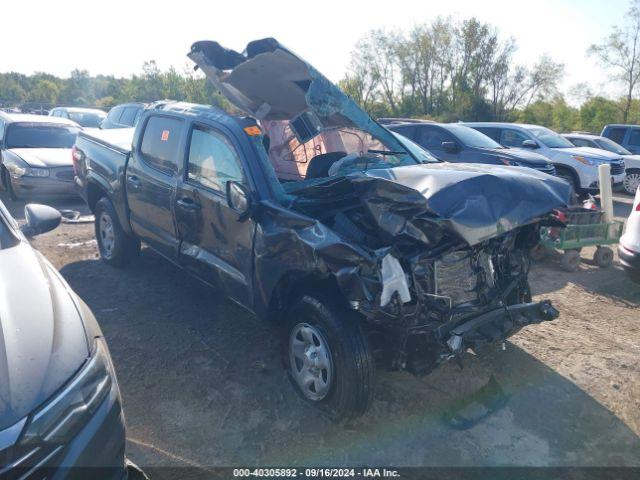
[[[178,238],[173,203],[178,158],[184,152],[184,121],[153,114],[133,146],[126,170],[131,228],[143,241],[170,259],[177,258]]]

